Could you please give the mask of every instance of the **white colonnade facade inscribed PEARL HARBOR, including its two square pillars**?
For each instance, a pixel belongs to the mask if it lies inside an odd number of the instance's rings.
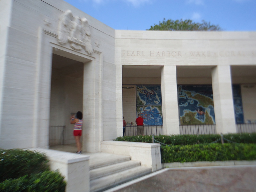
[[[122,65],[123,84],[157,79],[153,72],[161,69],[165,133],[179,133],[177,84],[212,84],[217,132],[236,132],[231,87],[255,84],[255,43],[255,32],[116,30],[116,61]]]

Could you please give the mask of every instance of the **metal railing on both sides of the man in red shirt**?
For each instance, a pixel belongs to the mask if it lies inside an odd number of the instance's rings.
[[[144,135],[162,135],[163,125],[143,125]],[[135,136],[136,125],[126,125],[124,136]]]

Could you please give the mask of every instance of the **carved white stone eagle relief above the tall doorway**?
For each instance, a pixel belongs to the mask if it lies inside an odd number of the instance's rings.
[[[70,44],[75,50],[84,49],[92,54],[91,30],[86,18],[72,15],[70,10],[65,11],[59,19],[58,41],[60,44]]]

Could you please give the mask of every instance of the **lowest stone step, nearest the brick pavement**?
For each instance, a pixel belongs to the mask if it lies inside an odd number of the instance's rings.
[[[119,171],[111,175],[93,179],[90,181],[90,192],[102,191],[112,188],[118,184],[136,179],[151,173],[151,168],[144,166],[137,166],[124,171]]]

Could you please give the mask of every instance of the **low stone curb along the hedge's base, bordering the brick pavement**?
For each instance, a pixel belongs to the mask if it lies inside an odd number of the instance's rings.
[[[253,161],[196,161],[196,162],[174,162],[174,163],[162,163],[163,168],[170,167],[205,167],[205,166],[228,166],[228,165],[252,165],[256,164],[256,160]]]

